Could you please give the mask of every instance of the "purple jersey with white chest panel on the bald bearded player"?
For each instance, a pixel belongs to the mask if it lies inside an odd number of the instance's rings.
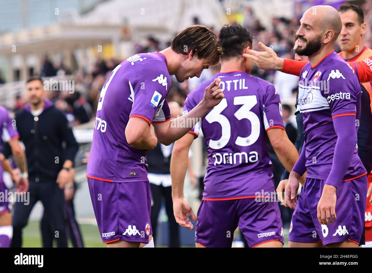
[[[337,141],[332,119],[356,116],[355,130],[359,126],[359,81],[349,64],[331,52],[314,67],[308,62],[301,71],[298,85],[297,107],[304,117],[306,177],[327,179]],[[344,181],[363,173],[366,170],[356,147]]]

